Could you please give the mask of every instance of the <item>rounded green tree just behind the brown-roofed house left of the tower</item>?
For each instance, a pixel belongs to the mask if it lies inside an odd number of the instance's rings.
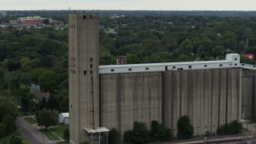
[[[56,86],[57,75],[52,70],[47,70],[38,78],[38,84],[44,91],[53,92]]]

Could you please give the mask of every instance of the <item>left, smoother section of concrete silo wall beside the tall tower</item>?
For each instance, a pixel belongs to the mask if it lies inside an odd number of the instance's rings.
[[[123,134],[134,121],[162,122],[162,72],[100,75],[100,125]]]

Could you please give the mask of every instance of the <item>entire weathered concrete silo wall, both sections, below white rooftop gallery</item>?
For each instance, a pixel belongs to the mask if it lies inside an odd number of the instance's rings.
[[[100,126],[121,134],[134,121],[157,120],[177,134],[178,118],[188,115],[194,135],[240,121],[242,69],[167,70],[100,74]]]

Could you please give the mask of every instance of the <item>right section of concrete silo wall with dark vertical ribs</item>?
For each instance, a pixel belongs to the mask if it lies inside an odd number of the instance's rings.
[[[242,69],[165,71],[163,79],[163,125],[174,134],[183,115],[195,135],[241,118]]]

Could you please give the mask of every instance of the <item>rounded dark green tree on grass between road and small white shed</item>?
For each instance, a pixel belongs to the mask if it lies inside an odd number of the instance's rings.
[[[49,126],[56,125],[56,119],[54,118],[54,115],[51,114],[49,110],[46,110],[43,108],[37,117],[38,126],[45,126],[46,130]]]

